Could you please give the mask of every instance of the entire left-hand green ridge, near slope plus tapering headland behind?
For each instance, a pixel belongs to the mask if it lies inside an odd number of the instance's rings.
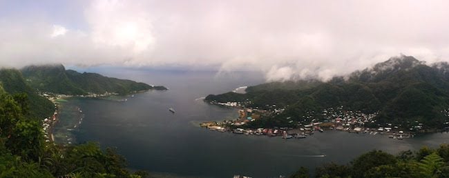
[[[96,73],[79,73],[66,70],[61,64],[27,66],[21,70],[0,69],[0,85],[15,97],[24,97],[28,106],[27,117],[43,119],[54,112],[51,101],[38,92],[52,92],[65,95],[104,94],[115,92],[126,95],[142,90],[166,90],[164,86],[149,86],[127,79],[104,77]],[[21,94],[24,94],[21,96]],[[17,95],[17,96],[16,96]]]

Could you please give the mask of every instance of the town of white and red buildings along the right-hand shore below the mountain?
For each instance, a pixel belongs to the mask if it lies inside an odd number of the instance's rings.
[[[256,121],[261,117],[270,117],[279,115],[285,109],[273,108],[270,110],[260,110],[258,108],[247,108],[237,102],[216,103],[211,104],[225,106],[229,108],[238,108],[238,118],[225,121],[205,121],[200,126],[209,130],[218,132],[231,132],[239,135],[265,135],[267,137],[282,137],[283,139],[303,139],[315,132],[325,132],[325,130],[338,130],[343,132],[351,132],[356,134],[367,135],[386,135],[390,139],[407,139],[414,137],[418,133],[426,132],[442,132],[444,130],[423,130],[423,123],[416,121],[414,126],[408,130],[402,130],[400,126],[392,123],[386,123],[385,126],[367,127],[365,125],[373,125],[366,123],[375,123],[377,112],[365,114],[361,111],[344,110],[343,106],[337,108],[327,108],[323,110],[321,115],[325,119],[318,121],[314,119],[312,114],[307,112],[303,116],[304,121],[298,121],[296,127],[272,127],[272,128],[248,128],[246,125],[252,121]],[[291,117],[285,118],[288,123],[293,123]],[[306,120],[312,120],[306,122]]]

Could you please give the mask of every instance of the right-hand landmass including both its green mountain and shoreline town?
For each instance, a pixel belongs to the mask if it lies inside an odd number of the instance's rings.
[[[241,109],[234,121],[203,124],[227,130],[436,132],[449,128],[449,64],[401,55],[329,81],[263,83],[204,101]]]

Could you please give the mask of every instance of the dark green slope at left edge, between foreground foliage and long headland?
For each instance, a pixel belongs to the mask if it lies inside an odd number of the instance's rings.
[[[49,117],[52,115],[54,106],[51,101],[48,101],[45,97],[37,95],[35,90],[28,86],[19,70],[1,69],[0,83],[6,92],[15,95],[16,97],[20,97],[19,95],[25,94],[26,101],[28,103],[28,112],[25,113],[27,117],[43,119],[44,117]]]

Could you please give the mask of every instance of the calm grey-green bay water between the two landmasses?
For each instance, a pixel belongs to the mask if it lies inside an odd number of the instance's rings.
[[[232,177],[236,174],[278,177],[289,175],[300,166],[313,170],[329,161],[344,164],[372,149],[397,153],[423,145],[438,146],[449,138],[448,134],[434,134],[397,140],[383,135],[328,131],[306,139],[283,140],[213,132],[200,128],[198,123],[232,119],[238,113],[198,98],[262,83],[262,75],[148,70],[96,72],[164,85],[170,90],[140,93],[127,97],[126,102],[70,99],[64,103],[66,108],[81,108],[84,119],[75,130],[66,131],[64,126],[79,123],[79,118],[62,117],[56,134],[68,135],[67,138],[78,143],[98,141],[102,147],[116,147],[126,157],[130,168],[149,172],[169,172],[180,177]],[[175,114],[168,108],[174,108]],[[59,140],[65,141],[64,138]]]

